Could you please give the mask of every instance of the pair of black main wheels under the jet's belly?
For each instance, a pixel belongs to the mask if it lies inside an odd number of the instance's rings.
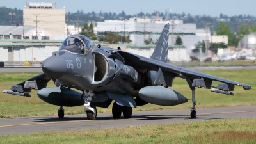
[[[113,118],[120,118],[121,113],[123,112],[124,118],[131,118],[132,116],[132,108],[128,106],[119,106],[114,102],[113,107],[112,107],[112,115]]]

